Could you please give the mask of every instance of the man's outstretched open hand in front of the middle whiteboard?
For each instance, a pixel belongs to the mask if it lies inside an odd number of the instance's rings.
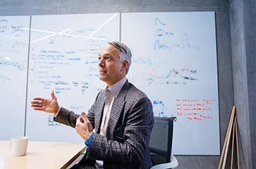
[[[51,99],[35,97],[33,100],[35,101],[31,102],[31,107],[33,107],[35,110],[56,114],[59,109],[57,97],[54,95],[54,90],[51,90]]]

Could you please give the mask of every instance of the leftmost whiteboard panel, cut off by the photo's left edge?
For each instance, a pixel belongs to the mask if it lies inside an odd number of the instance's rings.
[[[0,140],[24,135],[30,16],[0,16]]]

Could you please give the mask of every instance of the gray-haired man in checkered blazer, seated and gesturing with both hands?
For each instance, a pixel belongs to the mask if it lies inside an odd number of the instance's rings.
[[[55,114],[54,121],[75,128],[87,151],[73,168],[150,168],[150,135],[154,126],[152,104],[141,90],[126,79],[131,63],[128,46],[109,41],[99,53],[99,79],[106,89],[81,116],[59,107],[51,99],[35,97],[31,107]],[[93,133],[95,128],[95,133]]]

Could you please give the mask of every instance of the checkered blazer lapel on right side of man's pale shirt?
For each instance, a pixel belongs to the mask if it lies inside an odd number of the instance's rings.
[[[111,113],[109,116],[109,123],[106,128],[106,135],[111,139],[114,140],[114,129],[116,128],[116,123],[120,117],[121,111],[123,109],[123,105],[126,103],[126,93],[128,92],[130,83],[126,81],[121,89],[120,93],[116,97],[114,101],[113,107],[111,109]]]

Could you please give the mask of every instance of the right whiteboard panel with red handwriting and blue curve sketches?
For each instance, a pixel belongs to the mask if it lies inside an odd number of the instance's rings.
[[[122,13],[121,41],[133,52],[128,79],[154,116],[176,116],[173,154],[219,155],[214,12]]]

